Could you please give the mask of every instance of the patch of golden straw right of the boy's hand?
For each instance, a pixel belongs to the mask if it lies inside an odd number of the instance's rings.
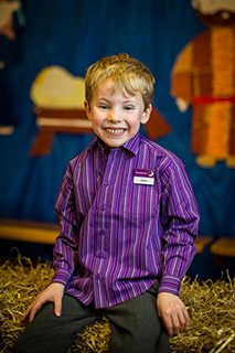
[[[235,278],[199,282],[184,278],[180,297],[190,329],[171,339],[173,352],[235,352]]]

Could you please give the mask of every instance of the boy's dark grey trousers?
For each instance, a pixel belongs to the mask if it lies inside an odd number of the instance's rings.
[[[62,315],[54,315],[54,304],[43,306],[14,344],[13,353],[66,353],[77,332],[102,320],[111,322],[109,353],[169,353],[168,335],[157,312],[158,284],[141,296],[111,308],[86,307],[65,293]]]

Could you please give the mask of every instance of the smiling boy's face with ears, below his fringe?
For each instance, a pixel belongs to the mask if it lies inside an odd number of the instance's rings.
[[[145,110],[139,92],[125,95],[114,90],[111,79],[107,79],[94,90],[90,106],[85,101],[85,109],[94,132],[110,149],[130,140],[139,131],[140,122],[149,120],[152,107]]]

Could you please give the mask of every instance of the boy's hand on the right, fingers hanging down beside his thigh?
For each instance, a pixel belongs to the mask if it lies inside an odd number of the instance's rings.
[[[170,338],[178,334],[180,330],[189,329],[190,317],[179,297],[160,292],[157,299],[157,308]]]

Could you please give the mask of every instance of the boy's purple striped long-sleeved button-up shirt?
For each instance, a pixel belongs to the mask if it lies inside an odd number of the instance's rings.
[[[153,170],[153,184],[133,183],[136,169]],[[173,153],[137,133],[106,156],[96,137],[68,163],[55,211],[52,282],[83,303],[111,307],[157,279],[159,291],[179,293],[196,253],[199,211]]]

